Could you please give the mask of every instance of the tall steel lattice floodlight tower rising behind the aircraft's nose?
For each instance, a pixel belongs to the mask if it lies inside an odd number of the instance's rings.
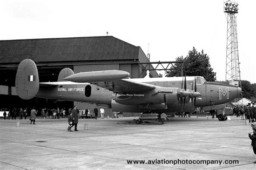
[[[224,12],[227,18],[226,81],[241,81],[236,16],[238,3],[230,0],[224,2]]]

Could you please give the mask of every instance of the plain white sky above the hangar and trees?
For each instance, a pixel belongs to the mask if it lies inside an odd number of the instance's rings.
[[[236,2],[241,80],[253,84],[256,1]],[[106,36],[108,32],[140,46],[146,55],[149,52],[151,62],[175,61],[195,47],[209,56],[217,80],[225,80],[223,0],[1,0],[0,19],[0,40]]]

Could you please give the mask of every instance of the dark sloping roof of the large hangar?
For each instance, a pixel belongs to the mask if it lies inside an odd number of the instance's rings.
[[[139,46],[113,36],[0,40],[2,64],[25,58],[35,62],[134,60],[140,51]]]

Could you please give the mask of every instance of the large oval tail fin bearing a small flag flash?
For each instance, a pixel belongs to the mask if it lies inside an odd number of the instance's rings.
[[[24,59],[19,63],[15,79],[16,93],[22,99],[29,100],[39,90],[39,77],[35,62]]]

